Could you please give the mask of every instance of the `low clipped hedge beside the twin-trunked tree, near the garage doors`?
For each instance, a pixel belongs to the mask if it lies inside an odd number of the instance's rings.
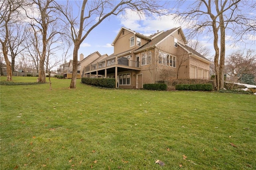
[[[212,84],[179,84],[175,86],[176,90],[192,90],[192,91],[212,91]]]

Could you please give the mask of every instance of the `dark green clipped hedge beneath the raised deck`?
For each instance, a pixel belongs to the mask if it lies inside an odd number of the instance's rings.
[[[95,78],[86,78],[82,77],[82,83],[100,87],[107,87],[107,88],[115,88],[116,87],[116,79],[113,78],[106,78],[106,79],[95,79]]]

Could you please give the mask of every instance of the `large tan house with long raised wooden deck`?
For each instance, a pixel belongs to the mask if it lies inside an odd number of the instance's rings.
[[[186,45],[182,29],[144,36],[122,27],[114,39],[114,53],[84,67],[87,77],[113,77],[116,87],[142,88],[170,77],[209,79],[210,61]]]

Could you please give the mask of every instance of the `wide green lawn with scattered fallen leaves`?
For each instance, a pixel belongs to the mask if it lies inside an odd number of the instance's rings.
[[[51,81],[1,85],[0,169],[256,168],[256,95]]]

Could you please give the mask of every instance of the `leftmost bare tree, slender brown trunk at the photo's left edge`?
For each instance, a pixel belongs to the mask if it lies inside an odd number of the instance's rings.
[[[7,67],[7,81],[12,81],[12,67],[8,59],[9,26],[18,16],[22,0],[5,0],[0,3],[0,42]]]

